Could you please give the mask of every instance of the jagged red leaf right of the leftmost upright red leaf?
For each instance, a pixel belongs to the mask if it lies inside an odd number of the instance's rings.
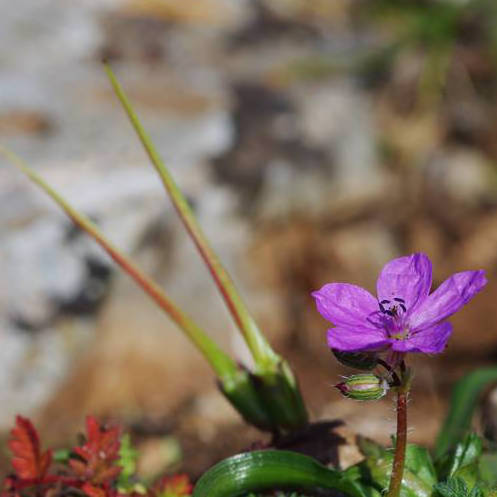
[[[115,464],[119,459],[121,430],[104,428],[93,416],[88,416],[86,432],[86,443],[73,449],[76,457],[71,458],[69,464],[76,475],[93,484],[111,482],[121,472],[121,467]]]

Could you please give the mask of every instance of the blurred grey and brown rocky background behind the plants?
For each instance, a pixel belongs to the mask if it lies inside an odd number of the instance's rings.
[[[454,381],[497,360],[495,1],[17,0],[2,9],[0,141],[249,362],[102,57],[315,419],[344,418],[386,442],[394,411],[390,398],[366,410],[332,388],[345,368],[326,347],[312,290],[349,281],[374,291],[384,263],[414,251],[433,260],[435,285],[487,270],[488,287],[453,319],[447,352],[412,358],[410,436],[431,444]],[[60,446],[86,414],[115,418],[150,476],[180,465],[198,474],[264,439],[240,429],[168,318],[1,164],[3,446],[16,413]]]

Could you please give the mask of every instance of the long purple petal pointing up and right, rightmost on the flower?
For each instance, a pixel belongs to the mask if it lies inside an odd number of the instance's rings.
[[[411,330],[422,330],[443,321],[467,304],[486,284],[485,271],[453,274],[411,315]]]

